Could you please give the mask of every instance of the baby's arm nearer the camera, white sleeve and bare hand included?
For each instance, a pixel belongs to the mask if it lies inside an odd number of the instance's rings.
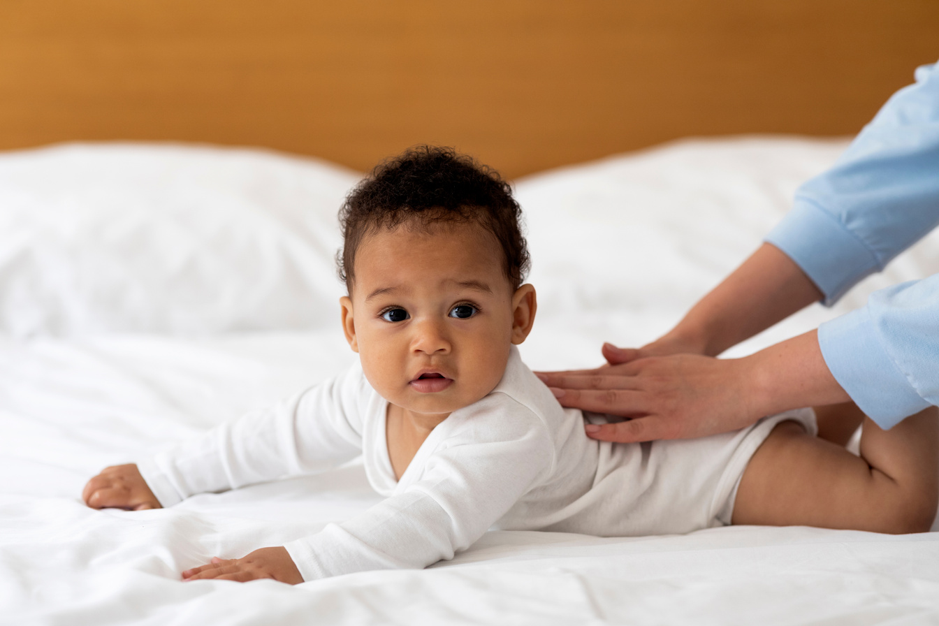
[[[501,428],[478,429],[507,440],[448,438],[453,445],[426,461],[420,480],[341,525],[246,557],[215,557],[182,577],[297,584],[364,570],[423,568],[452,558],[479,539],[550,466],[553,449],[544,429],[519,421],[524,420],[516,416],[516,422]]]

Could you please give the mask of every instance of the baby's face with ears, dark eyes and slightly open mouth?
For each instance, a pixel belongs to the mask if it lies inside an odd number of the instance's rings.
[[[535,312],[534,289],[513,290],[498,242],[473,223],[366,237],[342,305],[372,387],[437,420],[495,389]]]

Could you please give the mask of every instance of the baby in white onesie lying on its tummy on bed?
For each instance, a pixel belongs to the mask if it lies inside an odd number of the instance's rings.
[[[491,527],[600,536],[726,524],[928,530],[939,497],[933,411],[890,431],[866,420],[861,457],[815,435],[809,409],[726,435],[609,444],[602,416],[564,409],[519,359],[536,300],[520,209],[499,176],[422,147],[377,167],[343,206],[346,340],[360,363],[85,486],[88,506],[168,507],[202,492],[314,472],[362,454],[387,499],[281,547],[184,579],[300,583],[423,568]],[[848,424],[849,410],[820,419]]]

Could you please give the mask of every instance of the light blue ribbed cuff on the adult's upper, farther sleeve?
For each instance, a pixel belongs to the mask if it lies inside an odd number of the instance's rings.
[[[766,236],[824,294],[831,306],[864,277],[879,271],[877,258],[837,218],[804,198]]]

